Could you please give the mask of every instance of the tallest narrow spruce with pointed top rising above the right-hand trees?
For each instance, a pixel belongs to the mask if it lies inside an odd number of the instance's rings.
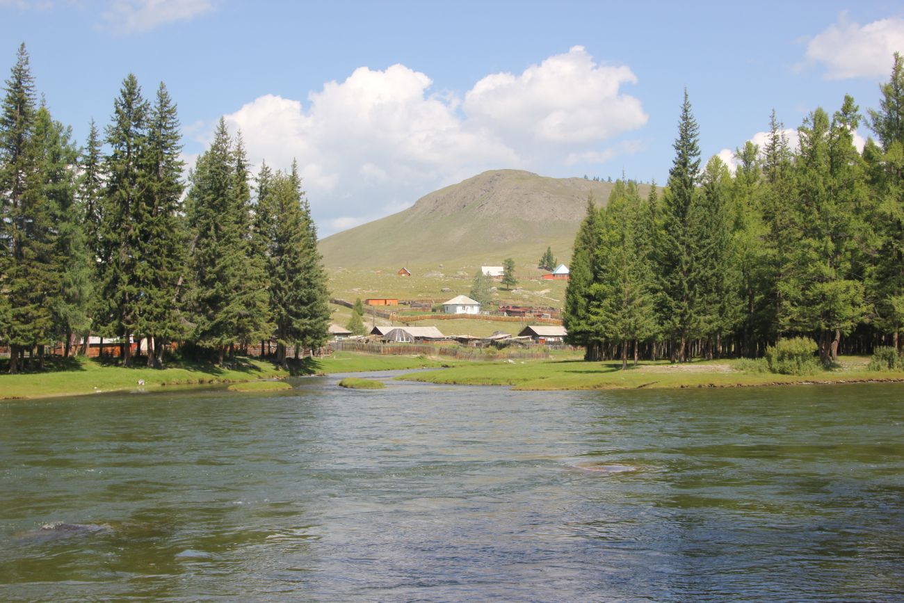
[[[691,102],[684,90],[678,137],[673,145],[675,157],[663,198],[664,223],[658,262],[660,316],[664,317],[666,333],[673,339],[673,360],[679,362],[688,360],[688,343],[700,331],[692,223],[692,204],[700,181],[699,137]]]

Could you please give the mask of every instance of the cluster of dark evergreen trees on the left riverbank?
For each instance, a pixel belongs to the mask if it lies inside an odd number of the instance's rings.
[[[89,335],[145,338],[146,363],[183,352],[223,362],[266,340],[327,338],[325,270],[297,167],[252,179],[240,135],[221,119],[184,184],[176,106],[133,75],[103,136],[83,148],[41,99],[24,44],[0,116],[0,345],[9,372],[45,346],[79,353]],[[253,185],[252,185],[253,184]]]

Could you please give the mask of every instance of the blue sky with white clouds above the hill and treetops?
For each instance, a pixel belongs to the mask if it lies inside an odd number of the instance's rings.
[[[844,94],[865,113],[904,5],[0,0],[0,41],[4,79],[25,42],[79,141],[134,72],[148,97],[165,81],[187,160],[221,116],[256,164],[297,157],[329,234],[485,169],[662,184],[684,87],[705,157],[772,108],[791,128]]]

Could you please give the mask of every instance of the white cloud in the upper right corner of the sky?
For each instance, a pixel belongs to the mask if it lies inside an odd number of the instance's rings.
[[[890,73],[895,52],[904,52],[904,19],[861,25],[842,13],[837,23],[809,41],[806,59],[825,64],[826,80],[878,78]]]

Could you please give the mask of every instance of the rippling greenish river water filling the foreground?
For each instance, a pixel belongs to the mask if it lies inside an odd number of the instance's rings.
[[[0,403],[0,599],[904,600],[900,384],[337,381]]]

